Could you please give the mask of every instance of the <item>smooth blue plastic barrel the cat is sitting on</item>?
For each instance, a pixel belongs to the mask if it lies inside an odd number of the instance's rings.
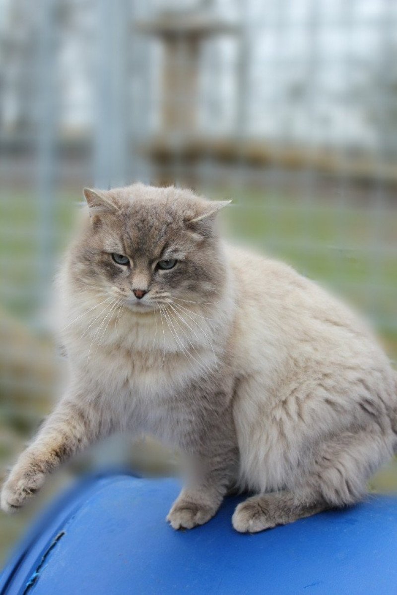
[[[127,474],[80,484],[37,525],[0,578],[7,595],[395,595],[397,499],[373,497],[255,535],[165,522],[175,480]]]

